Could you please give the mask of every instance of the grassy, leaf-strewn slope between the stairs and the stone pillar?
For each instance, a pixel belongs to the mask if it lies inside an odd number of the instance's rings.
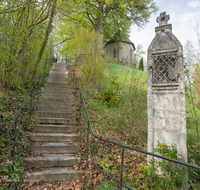
[[[109,64],[105,73],[96,83],[81,83],[94,133],[104,139],[146,150],[147,74],[114,64]],[[105,94],[111,98],[111,105],[105,101]],[[85,112],[84,116],[87,121]],[[93,159],[98,166],[120,179],[121,147],[95,140],[93,136],[90,136],[90,142]],[[138,177],[140,171],[137,166],[145,163],[146,155],[126,150],[124,182],[133,183],[132,187],[140,188],[144,179]],[[90,168],[96,170],[92,164]],[[99,173],[96,179],[101,179],[100,183],[107,183],[109,179],[99,177],[101,175]],[[91,180],[87,179],[86,183],[88,181]],[[114,186],[118,184],[115,183]]]

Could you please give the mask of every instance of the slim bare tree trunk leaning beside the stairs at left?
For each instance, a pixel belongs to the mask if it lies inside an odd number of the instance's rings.
[[[39,66],[40,59],[42,57],[43,49],[44,49],[44,46],[46,44],[46,41],[47,41],[47,38],[48,38],[48,35],[49,35],[49,31],[50,31],[50,28],[51,28],[51,23],[52,23],[52,19],[53,19],[53,15],[54,15],[55,5],[56,5],[56,0],[53,0],[53,4],[52,4],[52,7],[51,7],[51,11],[50,11],[49,22],[48,22],[48,25],[47,25],[47,28],[46,28],[46,31],[45,31],[45,34],[44,34],[44,38],[43,38],[42,44],[40,46],[38,57],[37,57],[36,62],[35,62],[35,66],[34,66],[34,69],[33,69],[33,74],[32,74],[32,77],[31,77],[31,81],[33,81],[33,79],[35,78],[35,75],[36,75],[36,72],[37,72],[37,68]]]

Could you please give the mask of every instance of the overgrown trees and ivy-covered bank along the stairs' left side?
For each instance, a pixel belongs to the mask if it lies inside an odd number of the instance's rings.
[[[46,61],[49,63],[53,61],[53,42],[49,40],[48,53],[46,44],[51,32],[55,2],[55,0],[0,1],[0,135],[8,131]],[[47,70],[46,68],[48,73]],[[37,90],[37,87],[34,90]],[[0,163],[3,166],[19,132],[16,144],[13,146],[15,151],[11,152],[7,164],[0,171],[3,189],[20,189],[18,182],[10,184],[3,182],[6,178],[19,181],[22,179],[23,157],[26,155],[28,145],[25,132],[30,130],[32,119],[28,117],[23,128],[20,131],[19,129],[29,105],[30,97],[10,132],[0,139]]]

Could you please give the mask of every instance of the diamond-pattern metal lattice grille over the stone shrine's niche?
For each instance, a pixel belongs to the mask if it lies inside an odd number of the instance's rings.
[[[152,55],[153,83],[177,82],[176,52]]]

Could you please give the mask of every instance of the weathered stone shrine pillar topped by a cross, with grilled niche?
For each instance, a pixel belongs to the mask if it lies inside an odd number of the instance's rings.
[[[157,17],[159,26],[147,52],[148,151],[158,141],[175,143],[187,162],[183,47],[167,24],[169,18],[166,12]]]

